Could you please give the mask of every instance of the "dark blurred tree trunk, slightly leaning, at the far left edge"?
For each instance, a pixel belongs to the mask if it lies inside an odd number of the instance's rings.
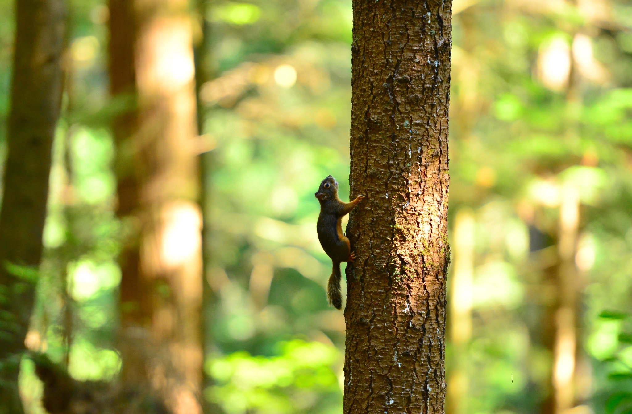
[[[63,0],[16,1],[8,157],[0,213],[0,413],[20,413],[17,379],[42,256],[51,151],[63,90]]]

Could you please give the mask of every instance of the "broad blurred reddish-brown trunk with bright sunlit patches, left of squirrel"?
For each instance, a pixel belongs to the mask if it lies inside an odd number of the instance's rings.
[[[136,109],[114,124],[121,254],[123,381],[152,386],[176,413],[198,413],[202,373],[202,219],[186,2],[111,0],[115,97]]]

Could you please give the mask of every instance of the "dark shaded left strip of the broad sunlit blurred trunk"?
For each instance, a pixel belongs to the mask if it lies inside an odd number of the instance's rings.
[[[110,93],[121,102],[125,112],[112,122],[116,142],[114,170],[117,178],[116,213],[129,228],[119,255],[121,288],[119,311],[121,332],[119,350],[123,359],[122,379],[127,384],[147,382],[149,364],[142,345],[150,335],[151,304],[149,285],[140,272],[140,172],[135,168],[135,142],[138,133],[135,42],[137,16],[134,2],[109,1],[109,80]],[[138,354],[138,355],[137,355]]]

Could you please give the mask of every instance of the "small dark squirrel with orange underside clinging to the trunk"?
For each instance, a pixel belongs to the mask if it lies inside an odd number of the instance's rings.
[[[344,203],[338,198],[338,183],[329,175],[320,182],[314,194],[320,201],[320,215],[316,224],[318,239],[322,249],[331,257],[333,270],[327,283],[327,298],[336,309],[342,309],[343,296],[340,289],[340,263],[353,262],[355,253],[351,251],[351,243],[343,234],[342,221],[365,196],[357,196],[355,200]]]

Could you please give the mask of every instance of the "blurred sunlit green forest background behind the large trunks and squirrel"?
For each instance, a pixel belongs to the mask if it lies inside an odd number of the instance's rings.
[[[78,381],[111,381],[121,100],[109,93],[107,4],[67,7],[27,345]],[[340,412],[345,325],[325,297],[313,192],[331,174],[348,197],[351,1],[189,7],[208,77],[205,410]],[[632,4],[455,0],[453,13],[447,410],[552,413],[567,398],[574,414],[632,412]],[[1,0],[2,148],[14,20]],[[187,235],[176,228],[174,246]],[[27,413],[44,412],[28,358],[20,390]]]

